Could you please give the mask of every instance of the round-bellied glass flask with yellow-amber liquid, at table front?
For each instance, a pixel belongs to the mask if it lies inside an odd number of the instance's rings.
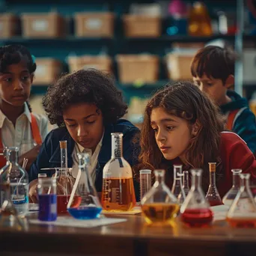
[[[180,209],[177,198],[165,185],[165,170],[154,171],[156,181],[141,200],[141,210],[147,224],[171,224]]]

